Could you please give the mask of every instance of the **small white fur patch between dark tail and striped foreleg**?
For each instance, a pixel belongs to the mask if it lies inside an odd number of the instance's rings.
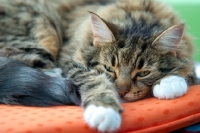
[[[57,78],[62,77],[62,69],[61,68],[46,69],[43,71],[44,71],[44,74],[46,74],[50,77],[57,77]]]

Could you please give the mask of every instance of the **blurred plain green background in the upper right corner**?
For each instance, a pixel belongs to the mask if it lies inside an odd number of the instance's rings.
[[[160,0],[171,5],[194,40],[194,60],[200,62],[200,0]]]

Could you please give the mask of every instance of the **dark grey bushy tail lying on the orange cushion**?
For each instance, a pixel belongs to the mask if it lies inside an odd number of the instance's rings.
[[[0,103],[79,105],[80,96],[70,79],[49,77],[19,61],[0,57]]]

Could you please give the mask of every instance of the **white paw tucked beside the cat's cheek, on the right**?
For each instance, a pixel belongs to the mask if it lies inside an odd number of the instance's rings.
[[[180,76],[163,78],[160,84],[153,88],[153,94],[158,99],[174,99],[184,95],[188,90],[187,82]]]

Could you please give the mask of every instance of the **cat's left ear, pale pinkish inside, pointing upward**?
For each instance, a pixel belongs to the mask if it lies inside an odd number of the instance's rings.
[[[115,41],[115,37],[112,31],[109,29],[104,20],[93,12],[90,12],[90,15],[92,23],[92,32],[94,37],[94,46],[102,46]]]

